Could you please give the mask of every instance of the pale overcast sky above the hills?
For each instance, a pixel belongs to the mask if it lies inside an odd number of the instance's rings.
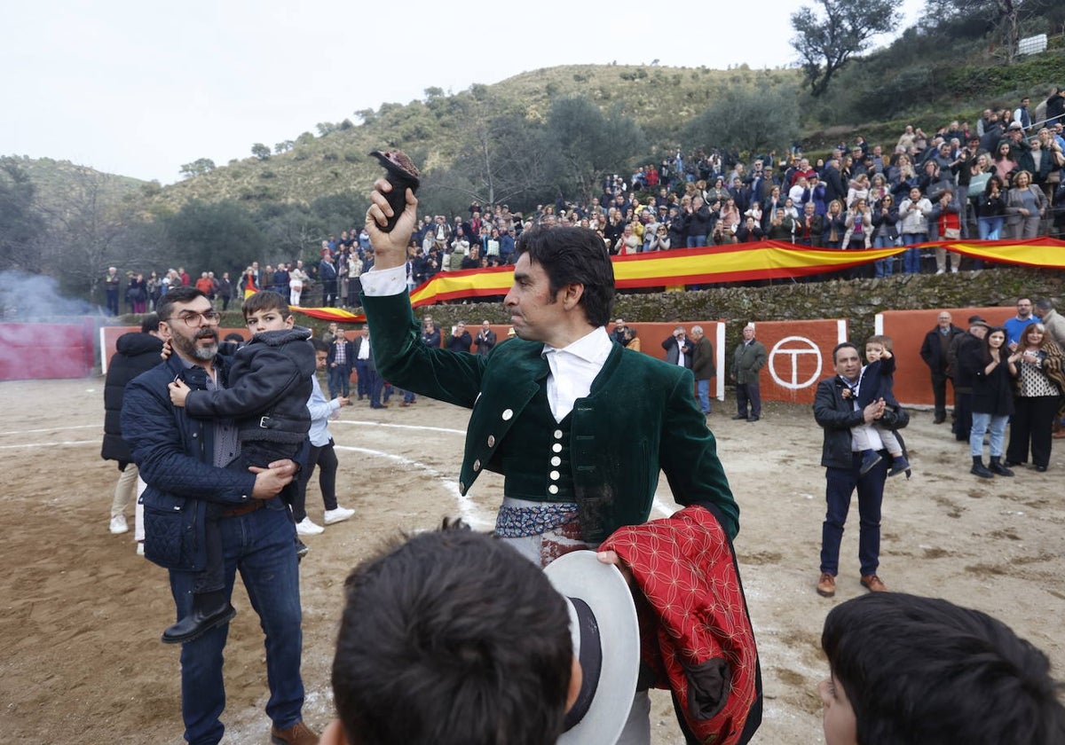
[[[802,4],[10,2],[0,154],[167,184],[183,163],[224,165],[253,143],[273,149],[320,121],[408,103],[431,86],[458,93],[541,67],[613,61],[791,65],[790,14]],[[922,0],[903,7],[900,30]]]

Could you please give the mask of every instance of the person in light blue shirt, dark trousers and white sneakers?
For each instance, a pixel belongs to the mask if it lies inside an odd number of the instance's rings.
[[[317,369],[324,369],[328,364],[329,345],[317,338],[312,338],[311,344],[314,346]],[[307,464],[299,471],[299,478],[296,480],[296,493],[292,500],[292,517],[297,525],[304,519],[308,519],[307,485],[314,475],[314,467],[317,466],[318,489],[322,491],[322,501],[326,508],[322,522],[325,525],[334,525],[355,514],[355,510],[341,507],[337,502],[337,468],[340,464],[337,461],[332,435],[329,434],[329,417],[339,412],[341,408],[346,407],[349,399],[345,395],[326,400],[316,375],[311,378],[311,398],[307,401],[307,411],[311,415],[311,430],[308,433],[311,440],[311,449],[307,456]]]

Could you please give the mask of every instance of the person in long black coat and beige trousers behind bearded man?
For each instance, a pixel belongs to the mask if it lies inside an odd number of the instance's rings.
[[[103,446],[100,457],[105,461],[118,461],[118,483],[115,498],[111,501],[111,532],[116,535],[129,530],[126,523],[126,508],[136,497],[137,468],[130,454],[129,445],[122,440],[121,413],[122,394],[126,383],[163,361],[159,355],[163,340],[159,335],[159,316],[149,313],[141,321],[141,331],[122,334],[115,343],[115,353],[108,363],[108,375],[103,383]],[[140,520],[138,520],[140,523]],[[137,540],[143,540],[142,530],[135,531]]]

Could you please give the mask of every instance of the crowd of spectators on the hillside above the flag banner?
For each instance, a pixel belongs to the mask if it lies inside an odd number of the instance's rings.
[[[608,176],[589,203],[560,196],[524,214],[507,204],[472,202],[448,219],[425,215],[411,239],[407,282],[413,288],[437,272],[511,264],[514,241],[534,226],[581,226],[596,231],[613,254],[770,239],[801,246],[862,250],[931,241],[1031,239],[1065,236],[1065,95],[1052,88],[1034,110],[986,109],[976,127],[957,120],[932,135],[907,126],[888,144],[858,135],[813,160],[799,144],[742,160],[735,150],[677,150],[629,178]],[[935,263],[924,261],[934,255]],[[322,242],[320,256],[267,265],[253,262],[233,282],[228,272],[195,280],[222,309],[247,288],[275,289],[300,304],[357,305],[359,276],[373,266],[364,230]],[[961,256],[912,248],[870,268],[957,271]],[[979,266],[979,262],[976,266]],[[151,310],[176,283],[193,283],[183,268],[128,272],[130,312]],[[118,313],[117,276],[105,280],[109,311]],[[113,301],[113,302],[112,302]]]

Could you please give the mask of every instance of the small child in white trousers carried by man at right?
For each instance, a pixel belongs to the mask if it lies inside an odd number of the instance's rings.
[[[895,357],[891,354],[891,338],[889,336],[870,336],[866,342],[866,360],[869,362],[862,369],[856,390],[851,394],[857,397],[858,409],[864,409],[876,399],[883,398],[889,407],[899,408],[891,390],[895,384]],[[843,392],[847,393],[846,391]],[[888,476],[898,476],[910,468],[910,461],[903,452],[902,443],[895,432],[873,420],[851,428],[851,437],[856,449],[862,451],[862,476],[868,474],[881,461],[876,452],[883,444],[883,449],[891,456],[891,469]],[[878,440],[880,443],[878,443]]]

